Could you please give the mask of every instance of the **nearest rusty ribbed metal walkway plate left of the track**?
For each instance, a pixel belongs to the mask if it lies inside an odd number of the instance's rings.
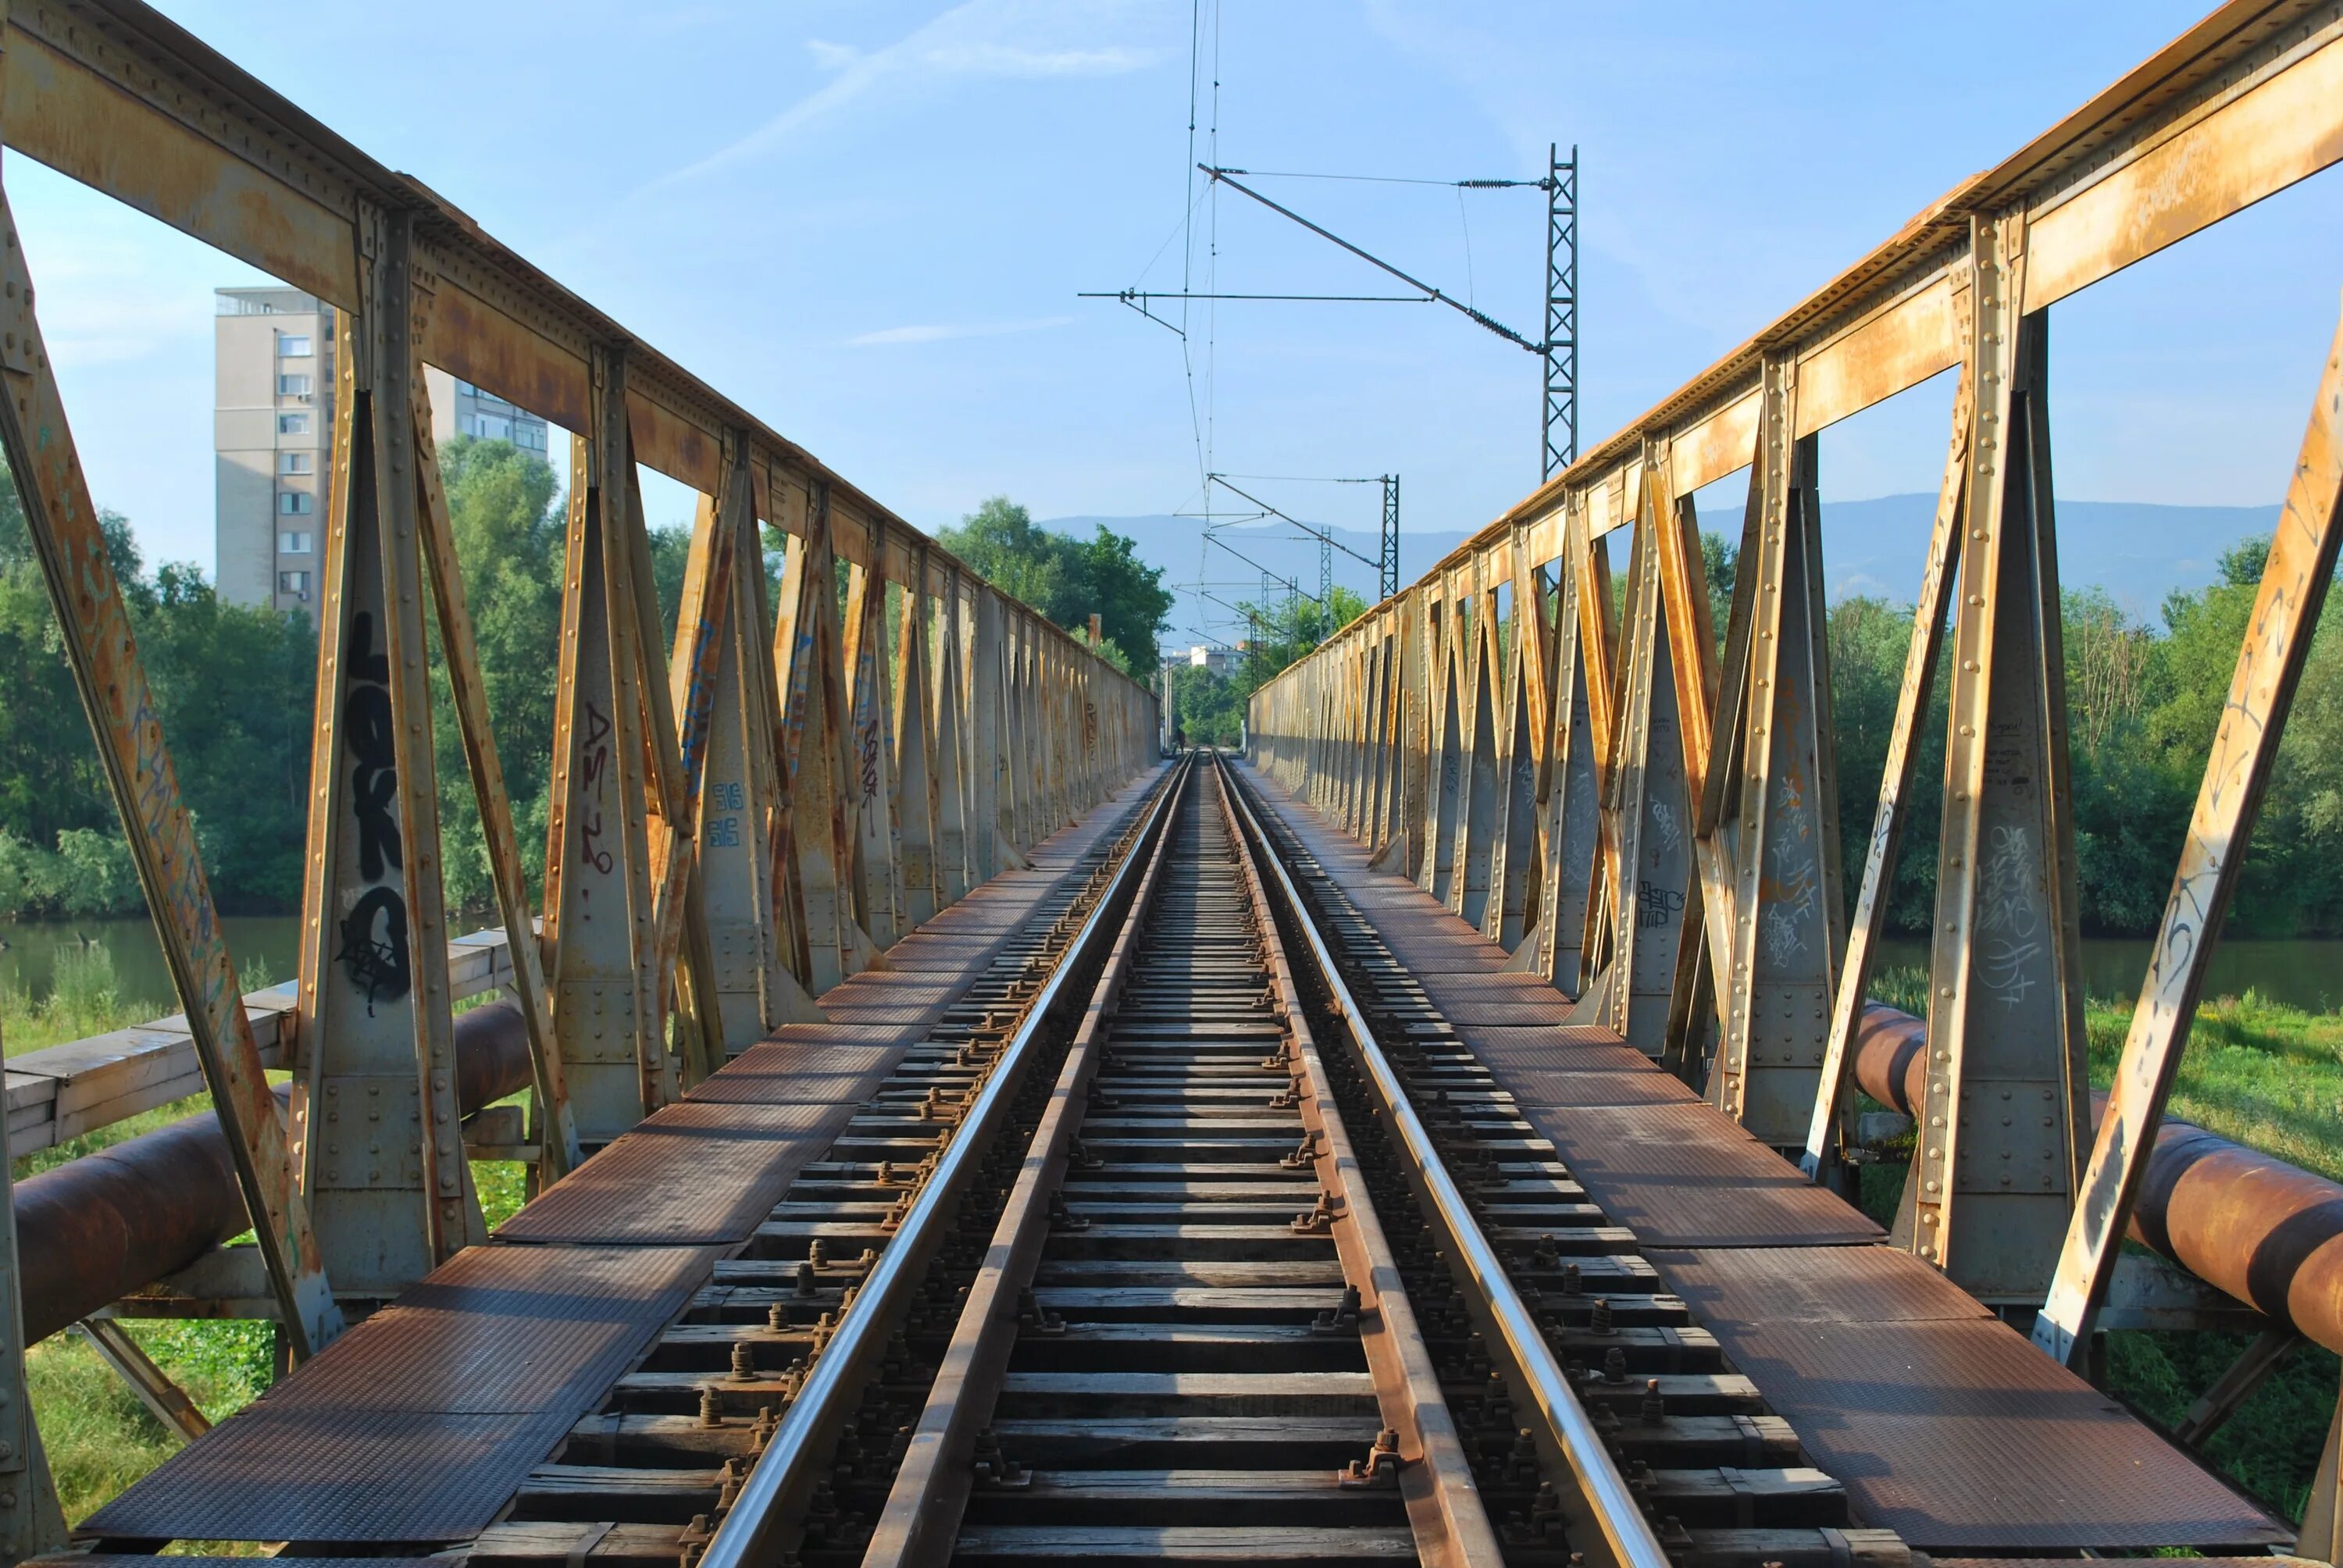
[[[705,1247],[471,1247],[164,1460],[82,1535],[469,1538],[712,1266]]]

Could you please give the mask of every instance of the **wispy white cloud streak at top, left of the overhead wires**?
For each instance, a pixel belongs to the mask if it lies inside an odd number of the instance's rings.
[[[904,91],[951,77],[1038,80],[1099,77],[1143,70],[1155,49],[1101,45],[1082,33],[1106,30],[1127,12],[1127,0],[1047,5],[1043,0],[965,0],[923,28],[883,49],[862,54],[851,45],[808,42],[815,63],[832,80],[780,110],[747,136],[663,173],[644,185],[661,190],[787,145],[801,131],[829,120],[879,89]]]

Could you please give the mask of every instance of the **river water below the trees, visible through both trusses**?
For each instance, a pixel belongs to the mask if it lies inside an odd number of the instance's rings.
[[[300,968],[300,919],[291,914],[230,914],[227,952],[251,973],[267,966],[272,982],[293,980]],[[478,921],[473,921],[478,923]],[[471,930],[473,923],[457,921]],[[176,1013],[171,975],[162,966],[155,930],[143,919],[122,921],[0,921],[0,989],[26,991],[35,1003],[56,984],[56,961],[103,947],[112,959],[115,989],[124,1003],[148,1003],[152,1015]],[[1928,945],[1891,940],[1879,945],[1879,963],[1926,966]],[[2137,996],[2149,968],[2144,938],[2083,938],[2083,989],[2092,996]],[[2256,989],[2313,1013],[2343,1008],[2343,940],[2224,942],[2214,949],[2207,996],[2242,996]]]

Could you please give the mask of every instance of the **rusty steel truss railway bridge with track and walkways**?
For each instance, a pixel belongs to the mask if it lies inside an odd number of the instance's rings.
[[[1261,687],[1242,757],[138,0],[0,12],[5,159],[340,333],[302,961],[239,996],[0,195],[0,445],[183,1003],[12,1057],[9,1151],[211,1097],[7,1188],[9,1563],[2336,1561],[2334,1437],[2301,1526],[2195,1446],[2343,1348],[2343,1188],[2163,1111],[2336,570],[2343,340],[2104,1102],[2048,417],[2059,300],[2343,157],[2329,0],[2224,5],[1926,206]],[[541,902],[424,366],[574,431]],[[1945,370],[1842,867],[1816,434]],[[703,497],[672,647],[637,464]],[[1692,495],[1739,469],[1720,638]],[[1940,668],[1919,1020],[1867,987]],[[530,1172],[494,1230],[476,1160]],[[152,1317],[267,1320],[281,1376],[211,1427]],[[2092,1380],[2120,1327],[2254,1338],[2165,1432]],[[66,1329],[187,1437],[70,1521],[23,1359]]]

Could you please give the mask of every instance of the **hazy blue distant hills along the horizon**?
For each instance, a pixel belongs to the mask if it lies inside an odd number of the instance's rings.
[[[1830,598],[1872,593],[1898,605],[1912,600],[1919,586],[1921,553],[1928,546],[1928,520],[1935,495],[1884,495],[1867,502],[1823,502],[1823,579]],[[1293,579],[1305,593],[1317,591],[1319,546],[1286,523],[1251,523],[1218,530],[1228,548],[1214,546],[1204,558],[1204,523],[1200,518],[1043,518],[1043,527],[1061,534],[1089,534],[1106,525],[1129,534],[1139,555],[1164,567],[1164,581],[1176,591],[1172,623],[1162,645],[1232,642],[1242,635],[1237,616],[1223,605],[1195,593],[1202,563],[1204,588],[1228,602],[1261,598],[1261,570]],[[1741,534],[1741,513],[1713,513],[1710,532]],[[2247,534],[2266,534],[2277,523],[2277,506],[2158,506],[2153,502],[2059,502],[2059,579],[2069,588],[2106,588],[2118,605],[2153,621],[2174,588],[2202,588],[2219,572],[2221,551]],[[1373,560],[1375,534],[1328,530],[1338,548],[1333,579],[1364,598],[1375,598],[1375,572],[1357,551]],[[1415,581],[1425,567],[1462,544],[1462,532],[1401,532],[1399,581]],[[1624,546],[1624,541],[1621,541]],[[1624,567],[1621,553],[1614,565]]]

